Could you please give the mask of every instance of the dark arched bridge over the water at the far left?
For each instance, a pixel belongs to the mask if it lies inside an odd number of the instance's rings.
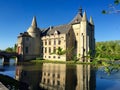
[[[15,64],[22,61],[22,56],[15,52],[0,52],[0,57],[2,58],[3,65],[9,65],[9,60],[15,57]]]

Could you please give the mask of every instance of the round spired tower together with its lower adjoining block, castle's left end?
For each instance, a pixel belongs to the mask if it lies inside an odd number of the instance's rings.
[[[40,57],[41,51],[41,31],[37,27],[36,17],[33,17],[31,26],[27,32],[18,36],[18,54],[23,56],[23,60],[31,60]]]

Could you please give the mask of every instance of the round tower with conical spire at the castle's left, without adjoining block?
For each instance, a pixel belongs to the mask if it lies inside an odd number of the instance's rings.
[[[36,17],[33,17],[31,26],[27,30],[31,36],[30,55],[39,57],[40,56],[40,29],[37,27]]]

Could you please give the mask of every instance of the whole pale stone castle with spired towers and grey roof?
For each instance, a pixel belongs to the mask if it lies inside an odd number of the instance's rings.
[[[90,52],[95,53],[94,22],[87,20],[86,12],[80,8],[77,15],[66,25],[50,26],[40,29],[36,17],[27,32],[20,33],[17,41],[17,52],[24,60],[42,57],[45,60],[68,61],[75,56],[81,62]]]

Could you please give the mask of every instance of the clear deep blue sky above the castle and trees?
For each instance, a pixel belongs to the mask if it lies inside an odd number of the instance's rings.
[[[0,0],[0,49],[13,47],[33,16],[39,28],[69,23],[82,7],[93,17],[96,42],[120,40],[120,13],[102,14],[114,0]],[[116,7],[120,10],[120,5]]]

